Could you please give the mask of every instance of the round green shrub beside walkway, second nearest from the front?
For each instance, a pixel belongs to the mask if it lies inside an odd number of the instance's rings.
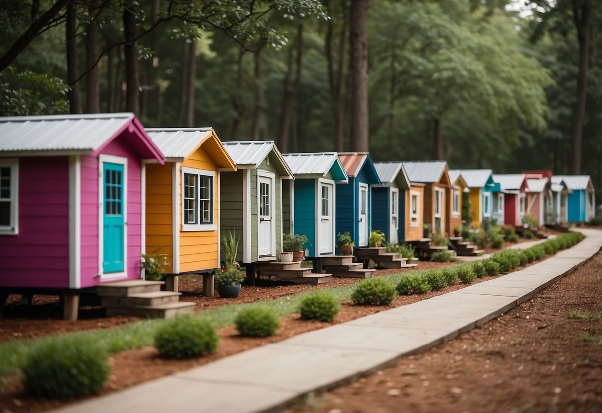
[[[209,321],[182,315],[169,320],[155,334],[155,347],[167,358],[189,358],[214,353],[219,338]]]

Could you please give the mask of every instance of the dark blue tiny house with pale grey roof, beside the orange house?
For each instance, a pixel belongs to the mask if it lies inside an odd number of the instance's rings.
[[[389,243],[405,239],[405,197],[410,181],[402,162],[374,164],[379,184],[372,184],[372,228],[382,231]]]

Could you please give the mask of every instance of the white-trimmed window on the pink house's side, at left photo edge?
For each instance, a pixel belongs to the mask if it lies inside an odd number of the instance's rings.
[[[0,235],[19,233],[19,161],[0,160]]]

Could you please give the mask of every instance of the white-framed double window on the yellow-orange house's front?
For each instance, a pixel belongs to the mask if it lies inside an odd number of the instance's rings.
[[[182,231],[216,231],[216,173],[182,167]]]

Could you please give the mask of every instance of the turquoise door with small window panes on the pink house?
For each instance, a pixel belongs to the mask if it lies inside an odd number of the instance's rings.
[[[124,269],[123,239],[123,165],[104,163],[102,167],[103,254],[102,272],[115,273]]]

